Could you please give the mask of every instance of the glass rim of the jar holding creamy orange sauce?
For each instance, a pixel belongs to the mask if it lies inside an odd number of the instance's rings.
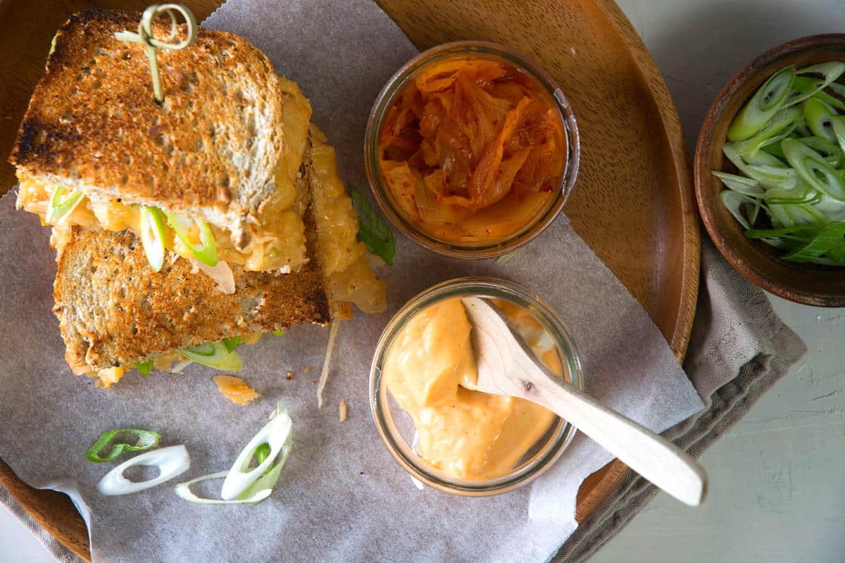
[[[418,479],[425,485],[456,495],[485,496],[499,495],[527,485],[533,479],[550,468],[554,462],[569,447],[575,436],[575,427],[569,421],[556,417],[559,429],[553,436],[545,438],[546,442],[534,459],[525,463],[515,471],[493,479],[464,480],[450,477],[442,472],[434,471],[412,452],[407,441],[395,430],[390,405],[387,404],[387,391],[384,388],[381,368],[390,350],[390,345],[408,320],[424,307],[433,305],[440,300],[459,295],[480,295],[488,298],[503,298],[515,303],[526,310],[536,313],[534,316],[541,321],[552,336],[561,353],[561,360],[565,362],[566,374],[572,385],[583,390],[584,375],[581,370],[581,359],[575,347],[575,341],[569,329],[558,313],[548,306],[541,297],[527,290],[520,284],[508,280],[486,277],[467,277],[450,279],[423,290],[408,300],[390,319],[379,337],[373,353],[373,363],[369,375],[370,411],[376,429],[379,431],[390,455],[404,468],[412,478]],[[549,427],[549,431],[555,428]],[[541,439],[542,440],[542,439]]]

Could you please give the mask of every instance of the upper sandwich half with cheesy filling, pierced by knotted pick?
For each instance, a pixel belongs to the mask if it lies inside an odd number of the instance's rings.
[[[54,225],[161,224],[167,250],[209,266],[303,268],[308,100],[248,41],[200,28],[192,46],[158,51],[155,103],[144,47],[114,37],[139,17],[90,10],[58,30],[10,158],[19,207]]]

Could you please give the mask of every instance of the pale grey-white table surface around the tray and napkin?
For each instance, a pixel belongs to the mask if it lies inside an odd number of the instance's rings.
[[[713,96],[745,62],[845,29],[842,0],[618,2],[666,78],[690,150]],[[591,563],[845,560],[845,309],[771,300],[810,352],[701,457],[704,506],[661,493]],[[0,563],[52,562],[0,507]]]

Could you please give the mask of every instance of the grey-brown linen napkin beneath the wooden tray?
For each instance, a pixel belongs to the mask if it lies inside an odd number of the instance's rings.
[[[705,240],[701,249],[698,307],[684,369],[707,408],[664,435],[693,456],[700,456],[806,350],[798,335],[771,310],[766,295],[730,268],[711,242]],[[657,488],[631,473],[593,517],[575,530],[553,561],[586,560],[619,533],[656,494]],[[58,561],[81,561],[41,528],[2,487],[0,504],[7,506]]]

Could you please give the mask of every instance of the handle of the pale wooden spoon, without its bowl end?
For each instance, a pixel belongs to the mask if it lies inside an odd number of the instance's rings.
[[[538,368],[539,366],[537,366]],[[687,452],[645,426],[542,370],[532,371],[524,397],[568,420],[651,483],[690,506],[706,493],[704,468]]]

